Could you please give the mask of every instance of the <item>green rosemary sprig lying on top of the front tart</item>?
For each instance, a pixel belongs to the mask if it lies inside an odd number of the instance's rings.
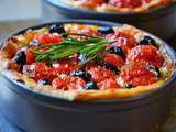
[[[76,40],[68,36],[84,36],[86,40]],[[45,58],[58,59],[67,57],[75,53],[85,53],[87,54],[87,61],[79,64],[84,65],[100,55],[100,53],[106,48],[108,40],[103,37],[85,35],[78,33],[63,33],[62,36],[64,40],[61,43],[53,43],[47,45],[41,45],[32,51],[36,56],[36,61],[42,61]],[[113,43],[117,41],[113,41]],[[44,50],[44,51],[42,51]]]

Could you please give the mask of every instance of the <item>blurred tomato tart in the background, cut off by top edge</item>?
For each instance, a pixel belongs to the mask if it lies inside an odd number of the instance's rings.
[[[143,12],[154,7],[172,3],[172,0],[63,0],[63,2],[100,12]]]

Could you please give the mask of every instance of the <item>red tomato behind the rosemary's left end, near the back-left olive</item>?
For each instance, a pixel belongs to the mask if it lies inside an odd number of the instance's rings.
[[[44,33],[34,37],[34,41],[40,44],[52,44],[62,42],[62,36],[58,33]]]

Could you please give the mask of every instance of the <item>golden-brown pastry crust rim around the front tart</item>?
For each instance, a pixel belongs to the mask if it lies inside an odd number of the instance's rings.
[[[113,28],[114,31],[121,31],[121,32],[128,32],[134,37],[141,37],[145,33],[131,26],[131,25],[123,25],[122,28]],[[169,69],[164,75],[167,76],[167,78],[161,78],[157,82],[148,85],[148,86],[138,86],[131,89],[107,89],[107,90],[68,90],[64,91],[61,89],[55,89],[51,85],[46,86],[38,86],[37,82],[34,79],[29,78],[28,76],[21,74],[18,72],[19,66],[13,62],[11,58],[16,52],[19,45],[21,45],[21,41],[16,41],[20,37],[23,37],[23,42],[30,42],[32,40],[32,35],[26,35],[29,32],[31,34],[36,34],[35,31],[26,31],[24,35],[18,35],[13,36],[12,38],[8,40],[1,51],[0,51],[0,69],[1,74],[3,76],[8,76],[8,78],[14,79],[14,80],[23,80],[25,86],[29,86],[30,88],[35,88],[36,92],[42,92],[45,95],[67,99],[67,100],[89,100],[89,99],[106,99],[106,98],[123,98],[123,97],[130,97],[138,94],[142,94],[152,89],[158,88],[168,77],[172,76],[173,72],[173,62],[170,58],[166,58],[167,63],[165,64],[165,67]],[[29,37],[30,36],[30,37]],[[14,41],[15,37],[15,41]],[[156,38],[157,43],[162,45],[162,42]],[[12,52],[11,52],[12,51]],[[162,51],[162,50],[161,50]],[[167,55],[165,55],[167,57]]]

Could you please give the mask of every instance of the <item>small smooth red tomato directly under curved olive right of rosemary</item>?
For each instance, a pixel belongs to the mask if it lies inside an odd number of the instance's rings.
[[[113,64],[116,67],[121,67],[124,65],[124,61],[121,56],[111,53],[106,54],[105,61]]]

